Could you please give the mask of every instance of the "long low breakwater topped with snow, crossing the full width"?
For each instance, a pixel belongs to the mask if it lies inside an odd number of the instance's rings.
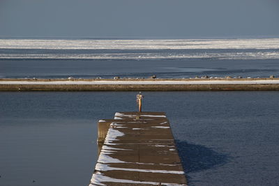
[[[279,91],[279,78],[0,79],[0,91]]]

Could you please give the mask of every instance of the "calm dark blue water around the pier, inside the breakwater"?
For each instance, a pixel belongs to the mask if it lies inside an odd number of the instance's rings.
[[[0,185],[88,185],[96,122],[136,110],[136,94],[1,92]],[[189,185],[279,185],[278,92],[144,95],[167,113]]]

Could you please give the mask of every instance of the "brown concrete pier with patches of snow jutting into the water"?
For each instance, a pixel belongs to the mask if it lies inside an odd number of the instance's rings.
[[[117,112],[98,123],[100,155],[91,185],[187,185],[163,112]]]

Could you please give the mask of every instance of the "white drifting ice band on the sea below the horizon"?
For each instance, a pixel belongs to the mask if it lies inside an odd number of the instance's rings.
[[[15,50],[0,52],[0,59],[279,59],[279,38],[195,40],[0,39],[0,49]],[[17,52],[20,49],[29,49],[31,52]],[[32,49],[40,50],[40,52],[34,52]],[[60,51],[43,51],[46,49]],[[73,50],[78,51],[74,52]],[[92,51],[81,52],[82,50]]]

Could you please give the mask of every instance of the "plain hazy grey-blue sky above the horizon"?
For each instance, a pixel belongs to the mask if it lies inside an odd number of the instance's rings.
[[[0,0],[0,36],[279,36],[279,0]]]

